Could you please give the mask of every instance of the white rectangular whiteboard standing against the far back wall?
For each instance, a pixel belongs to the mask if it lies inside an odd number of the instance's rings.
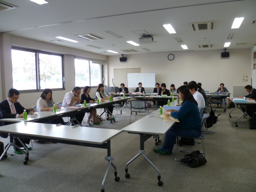
[[[138,87],[138,83],[142,83],[144,88],[154,88],[156,85],[156,74],[155,73],[128,73],[127,83],[128,88]]]

